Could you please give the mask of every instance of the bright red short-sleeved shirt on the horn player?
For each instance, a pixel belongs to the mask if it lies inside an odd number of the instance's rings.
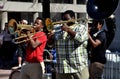
[[[35,49],[32,48],[30,45],[28,45],[27,49],[26,49],[26,61],[30,62],[30,63],[36,63],[36,62],[43,62],[43,52],[44,52],[44,48],[46,46],[46,42],[47,42],[47,36],[45,35],[44,32],[38,32],[36,33],[34,37],[38,37],[35,38],[34,40],[39,40],[42,44],[39,45],[38,47],[36,47]]]

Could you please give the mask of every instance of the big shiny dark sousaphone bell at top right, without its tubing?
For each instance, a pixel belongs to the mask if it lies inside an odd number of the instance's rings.
[[[117,8],[119,0],[88,0],[87,13],[93,19],[105,19]]]

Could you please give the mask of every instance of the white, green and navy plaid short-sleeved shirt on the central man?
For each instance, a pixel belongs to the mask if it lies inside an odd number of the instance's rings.
[[[67,35],[66,39],[63,39],[65,32],[59,34],[58,37],[60,38],[55,41],[57,52],[56,70],[58,73],[75,73],[88,66],[87,29],[85,25],[75,24],[72,28],[76,32],[74,38]]]

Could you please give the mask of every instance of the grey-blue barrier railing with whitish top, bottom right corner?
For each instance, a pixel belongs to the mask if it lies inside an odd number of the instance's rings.
[[[120,79],[120,52],[106,53],[107,63],[102,79]]]

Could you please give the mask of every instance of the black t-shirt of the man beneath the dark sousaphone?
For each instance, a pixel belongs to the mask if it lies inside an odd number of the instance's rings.
[[[100,62],[100,63],[105,64],[106,63],[106,57],[105,57],[106,41],[107,41],[106,32],[104,30],[101,31],[94,39],[100,40],[102,44],[92,49],[91,63]]]

